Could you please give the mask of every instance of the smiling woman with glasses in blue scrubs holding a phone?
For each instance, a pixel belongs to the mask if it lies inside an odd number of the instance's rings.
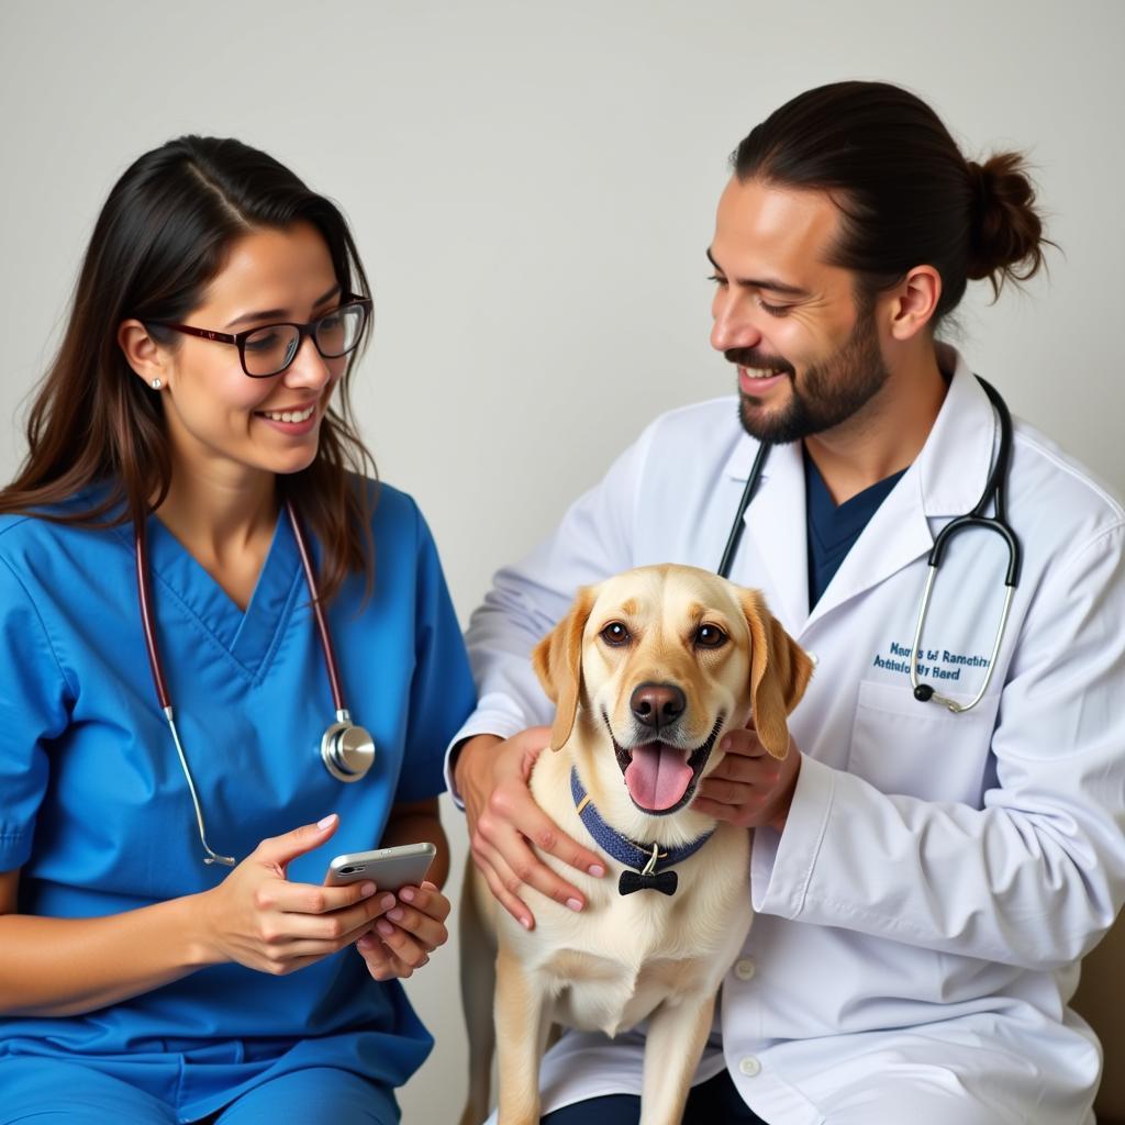
[[[234,141],[145,154],[98,219],[0,493],[2,1123],[386,1125],[430,1050],[397,979],[447,938],[436,794],[474,694],[429,529],[351,423],[367,292],[335,206]],[[287,504],[376,747],[354,784],[322,762]],[[421,840],[433,882],[323,885]]]

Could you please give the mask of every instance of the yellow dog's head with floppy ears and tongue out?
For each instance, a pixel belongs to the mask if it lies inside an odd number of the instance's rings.
[[[579,591],[532,655],[556,704],[551,749],[612,740],[633,804],[665,816],[718,765],[753,716],[774,757],[812,670],[762,596],[706,570],[649,566]]]

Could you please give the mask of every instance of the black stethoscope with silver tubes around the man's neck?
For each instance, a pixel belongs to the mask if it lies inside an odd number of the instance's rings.
[[[997,450],[996,461],[992,465],[992,471],[989,474],[988,484],[984,485],[984,492],[981,494],[981,498],[976,502],[975,507],[972,511],[966,512],[964,515],[958,515],[956,519],[951,520],[938,533],[937,538],[934,540],[934,547],[929,552],[929,576],[926,578],[926,590],[921,596],[921,609],[918,611],[918,626],[915,629],[914,645],[910,648],[910,686],[914,688],[914,696],[920,703],[928,703],[934,700],[937,703],[945,704],[954,714],[960,714],[962,711],[968,711],[971,708],[976,706],[978,703],[984,698],[984,692],[988,690],[989,682],[992,678],[992,670],[996,668],[996,658],[1000,651],[1000,645],[1004,641],[1004,632],[1008,626],[1008,612],[1011,609],[1011,596],[1016,592],[1016,586],[1019,584],[1019,568],[1023,562],[1023,551],[1019,547],[1019,540],[1016,538],[1015,531],[1011,530],[1010,524],[1007,522],[1005,515],[1005,501],[1004,501],[1004,487],[1005,482],[1008,477],[1009,461],[1011,460],[1011,414],[1008,412],[1008,405],[1005,403],[1004,398],[1000,396],[1000,392],[996,389],[990,382],[986,382],[980,376],[976,376],[976,380],[984,388],[984,393],[988,395],[989,400],[992,403],[992,407],[996,411],[997,417],[1000,422],[1000,448]],[[767,442],[762,442],[758,446],[757,454],[754,458],[754,465],[750,467],[750,476],[746,482],[746,487],[742,489],[742,498],[738,502],[738,514],[735,516],[735,522],[730,528],[730,536],[727,539],[727,546],[722,552],[722,560],[719,562],[719,575],[722,578],[730,577],[730,567],[735,561],[735,555],[738,551],[739,540],[742,538],[742,529],[746,525],[745,515],[746,510],[749,507],[750,501],[754,498],[754,493],[757,490],[758,482],[762,479],[762,469],[766,464],[766,457],[770,453],[771,446]],[[987,516],[984,514],[984,508],[988,506],[989,501],[993,504],[993,515]],[[918,681],[918,651],[921,646],[921,629],[926,621],[926,612],[929,609],[930,594],[934,591],[934,578],[937,576],[937,568],[942,565],[942,556],[945,555],[945,549],[950,544],[950,540],[958,531],[964,531],[966,528],[983,528],[988,531],[994,531],[1001,539],[1008,544],[1008,573],[1005,576],[1004,584],[1007,587],[1007,593],[1004,598],[1004,610],[1000,613],[1000,626],[996,632],[996,644],[992,646],[992,655],[989,657],[988,672],[984,674],[984,682],[980,686],[980,691],[973,696],[968,703],[958,703],[956,700],[950,699],[947,695],[940,695],[934,690],[929,684],[922,684]]]

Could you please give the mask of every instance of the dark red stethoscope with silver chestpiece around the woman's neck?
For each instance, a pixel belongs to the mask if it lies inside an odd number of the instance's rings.
[[[344,703],[343,691],[340,686],[340,668],[336,665],[335,651],[332,648],[332,636],[328,632],[328,623],[324,616],[324,608],[321,605],[316,574],[313,570],[305,533],[302,530],[300,521],[297,519],[297,513],[294,510],[291,501],[287,500],[285,502],[285,510],[289,516],[289,523],[292,525],[292,534],[297,540],[297,551],[300,555],[300,565],[305,570],[305,582],[308,585],[313,613],[316,615],[316,629],[321,634],[321,648],[324,650],[324,663],[328,669],[328,683],[332,686],[332,702],[336,711],[335,722],[328,724],[324,731],[324,736],[321,738],[321,760],[324,763],[325,770],[339,781],[359,781],[371,768],[375,762],[375,740],[362,727],[357,727],[351,721],[351,716]],[[204,846],[204,863],[219,863],[226,867],[233,867],[235,864],[233,856],[219,855],[217,852],[212,850],[210,845],[207,843],[207,828],[204,824],[199,793],[196,790],[196,783],[188,766],[187,755],[183,753],[183,744],[180,741],[179,731],[176,729],[172,700],[168,692],[168,683],[164,680],[160,651],[156,648],[156,629],[152,618],[152,595],[148,585],[148,552],[145,546],[144,521],[134,524],[133,536],[136,548],[137,595],[141,602],[141,623],[144,626],[144,640],[148,649],[148,666],[152,668],[152,681],[156,686],[156,698],[160,700],[160,708],[164,712],[164,718],[168,719],[168,726],[172,731],[172,740],[176,742],[176,753],[179,755],[183,776],[188,781],[191,803],[196,810],[196,824],[199,826],[199,842]]]

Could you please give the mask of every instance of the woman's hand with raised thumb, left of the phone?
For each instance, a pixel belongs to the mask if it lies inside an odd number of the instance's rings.
[[[333,814],[262,840],[218,886],[199,896],[209,963],[291,973],[357,942],[396,907],[395,896],[380,893],[371,880],[317,886],[286,879],[289,863],[327,843],[339,822]]]

